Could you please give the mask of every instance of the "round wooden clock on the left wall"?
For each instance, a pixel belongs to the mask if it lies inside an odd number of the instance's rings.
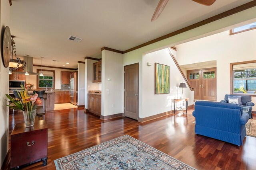
[[[4,29],[2,37],[2,61],[4,67],[8,67],[10,63],[10,56],[12,51],[11,31],[8,26]]]

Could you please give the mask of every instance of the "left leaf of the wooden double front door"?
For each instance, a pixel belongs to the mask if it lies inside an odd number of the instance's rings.
[[[201,100],[201,70],[187,70],[188,83],[194,88],[194,99]]]

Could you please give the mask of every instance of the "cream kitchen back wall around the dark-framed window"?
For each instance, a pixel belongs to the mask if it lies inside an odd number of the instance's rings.
[[[36,69],[40,69],[41,67],[38,66],[33,66],[33,72],[36,72]],[[61,75],[60,71],[70,71],[73,72],[75,70],[69,70],[69,69],[60,69],[60,68],[48,68],[48,67],[43,67],[43,70],[55,70],[55,89],[61,89]],[[43,71],[44,73],[44,71]],[[30,82],[35,85],[34,89],[36,89],[36,75],[29,75],[26,76],[26,83]]]

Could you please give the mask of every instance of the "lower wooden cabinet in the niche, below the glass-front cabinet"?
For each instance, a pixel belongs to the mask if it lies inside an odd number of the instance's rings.
[[[101,95],[89,94],[89,111],[101,115]]]

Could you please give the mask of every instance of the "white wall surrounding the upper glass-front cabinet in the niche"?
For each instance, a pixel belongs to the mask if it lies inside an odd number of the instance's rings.
[[[92,64],[96,63],[95,60],[85,59],[84,67],[84,108],[88,109],[88,92],[89,90],[101,90],[101,83],[92,82]]]

